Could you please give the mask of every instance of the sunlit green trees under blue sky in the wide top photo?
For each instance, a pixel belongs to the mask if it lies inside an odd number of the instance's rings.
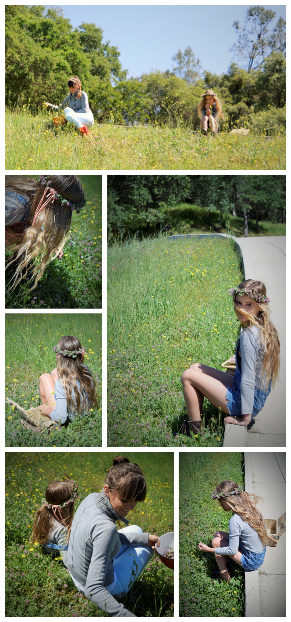
[[[246,24],[234,26],[234,51],[247,68],[231,63],[228,72],[202,72],[199,58],[188,46],[172,57],[166,72],[127,76],[115,45],[104,42],[102,29],[81,23],[73,29],[58,7],[6,5],[6,103],[60,103],[71,75],[78,75],[99,123],[182,124],[199,127],[197,105],[205,88],[222,100],[222,129],[250,127],[274,133],[285,126],[285,22],[263,7],[247,11]],[[254,66],[254,68],[253,68]],[[260,113],[258,115],[257,113]]]

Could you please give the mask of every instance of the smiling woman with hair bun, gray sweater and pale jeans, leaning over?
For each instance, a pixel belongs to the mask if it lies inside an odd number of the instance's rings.
[[[145,501],[140,467],[117,456],[100,494],[89,494],[74,516],[68,570],[78,590],[112,617],[135,617],[115,600],[126,594],[153,555],[157,536],[128,526],[127,515]],[[117,531],[115,522],[125,522]]]

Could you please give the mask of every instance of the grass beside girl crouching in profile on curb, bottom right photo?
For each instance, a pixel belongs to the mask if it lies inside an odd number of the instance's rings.
[[[221,481],[244,485],[241,453],[179,453],[179,616],[244,617],[244,572],[229,559],[231,583],[219,582],[211,547],[218,530],[229,531],[232,513],[225,512],[211,493]]]

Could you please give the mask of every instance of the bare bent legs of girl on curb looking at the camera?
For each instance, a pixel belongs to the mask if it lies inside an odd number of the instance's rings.
[[[226,389],[233,386],[233,376],[220,369],[194,363],[182,374],[184,400],[190,421],[199,421],[204,397],[229,414],[226,406]]]

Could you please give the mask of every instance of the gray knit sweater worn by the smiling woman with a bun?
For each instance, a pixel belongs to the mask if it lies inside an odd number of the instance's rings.
[[[68,570],[93,603],[114,618],[133,617],[106,590],[114,581],[113,559],[122,544],[148,545],[148,533],[119,534],[115,521],[128,521],[115,512],[102,490],[88,494],[74,515],[69,538]],[[106,603],[106,605],[105,605]]]

